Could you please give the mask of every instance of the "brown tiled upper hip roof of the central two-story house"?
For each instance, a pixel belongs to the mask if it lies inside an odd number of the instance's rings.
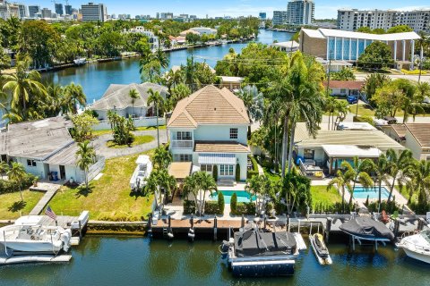
[[[207,86],[179,101],[168,127],[199,124],[249,124],[244,102],[227,88]]]

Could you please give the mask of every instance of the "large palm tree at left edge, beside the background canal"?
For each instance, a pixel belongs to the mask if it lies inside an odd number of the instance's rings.
[[[39,71],[27,71],[27,62],[18,62],[16,72],[3,75],[4,92],[11,92],[11,107],[20,112],[23,119],[28,117],[27,105],[35,95],[47,96],[47,88],[40,82]]]

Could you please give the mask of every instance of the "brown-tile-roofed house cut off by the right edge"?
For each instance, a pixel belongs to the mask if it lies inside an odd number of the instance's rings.
[[[417,160],[430,160],[430,123],[391,124],[382,130],[412,151]]]

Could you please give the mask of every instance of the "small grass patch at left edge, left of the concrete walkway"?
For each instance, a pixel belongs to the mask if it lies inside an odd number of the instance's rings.
[[[21,201],[20,192],[0,195],[0,220],[10,220],[20,217],[22,215],[30,214],[30,211],[39,202],[44,193],[39,191],[24,190],[22,197],[24,202]]]

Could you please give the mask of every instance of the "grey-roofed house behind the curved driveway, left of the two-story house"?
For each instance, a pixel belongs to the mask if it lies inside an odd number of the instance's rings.
[[[100,121],[107,120],[107,112],[114,110],[116,114],[124,117],[145,117],[154,114],[153,105],[148,105],[148,90],[158,91],[160,96],[166,98],[168,88],[155,83],[131,83],[131,84],[111,84],[107,88],[103,97],[94,104],[90,109],[98,114]],[[130,90],[136,90],[138,97],[134,100],[130,97]]]

